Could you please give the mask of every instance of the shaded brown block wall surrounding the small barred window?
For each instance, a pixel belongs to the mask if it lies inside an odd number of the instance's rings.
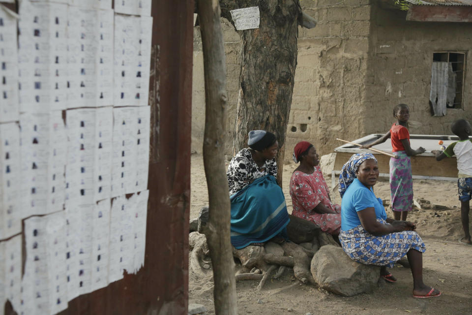
[[[360,131],[388,131],[395,122],[393,107],[406,103],[410,106],[410,120],[422,125],[411,126],[410,133],[451,134],[449,126],[453,121],[472,118],[472,63],[466,60],[463,109],[447,109],[446,116],[433,117],[429,106],[433,53],[466,52],[466,59],[471,58],[472,24],[410,22],[406,21],[406,12],[374,2]],[[374,121],[382,124],[371,124]]]

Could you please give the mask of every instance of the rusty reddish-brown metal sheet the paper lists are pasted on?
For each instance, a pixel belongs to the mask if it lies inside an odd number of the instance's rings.
[[[193,0],[152,0],[144,267],[70,301],[62,315],[187,314],[193,12]]]

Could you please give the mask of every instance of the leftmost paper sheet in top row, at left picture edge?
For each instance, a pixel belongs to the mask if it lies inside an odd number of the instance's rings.
[[[0,7],[0,123],[18,120],[17,19]]]

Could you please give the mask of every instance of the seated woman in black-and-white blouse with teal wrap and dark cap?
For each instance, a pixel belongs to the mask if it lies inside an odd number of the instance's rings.
[[[231,199],[231,243],[236,249],[261,245],[274,236],[286,238],[289,216],[277,185],[278,142],[265,130],[249,132],[249,148],[231,159],[228,171]]]

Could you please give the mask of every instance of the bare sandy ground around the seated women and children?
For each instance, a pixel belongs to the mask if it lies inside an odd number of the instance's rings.
[[[289,213],[292,200],[288,182],[295,164],[284,165],[283,189]],[[328,185],[331,179],[325,178]],[[313,315],[377,315],[377,314],[472,314],[472,246],[458,243],[462,235],[460,202],[455,182],[414,180],[414,198],[422,197],[446,210],[415,210],[408,220],[417,224],[417,231],[426,244],[423,254],[423,279],[439,288],[442,296],[430,299],[412,297],[413,279],[410,269],[396,266],[390,271],[398,279],[395,284],[379,282],[373,294],[359,294],[346,298],[328,293],[316,286],[297,284],[293,272],[282,279],[267,281],[261,292],[255,281],[236,283],[238,314],[301,314]],[[380,180],[374,187],[378,197],[390,199],[388,180]],[[340,202],[339,194],[331,193]],[[202,155],[192,156],[190,218],[196,218],[202,206],[207,205],[207,185]],[[391,211],[387,211],[388,216]],[[236,264],[238,268],[238,264]],[[236,269],[237,270],[237,269]],[[211,274],[198,277],[189,272],[189,303],[203,304],[214,314]]]

